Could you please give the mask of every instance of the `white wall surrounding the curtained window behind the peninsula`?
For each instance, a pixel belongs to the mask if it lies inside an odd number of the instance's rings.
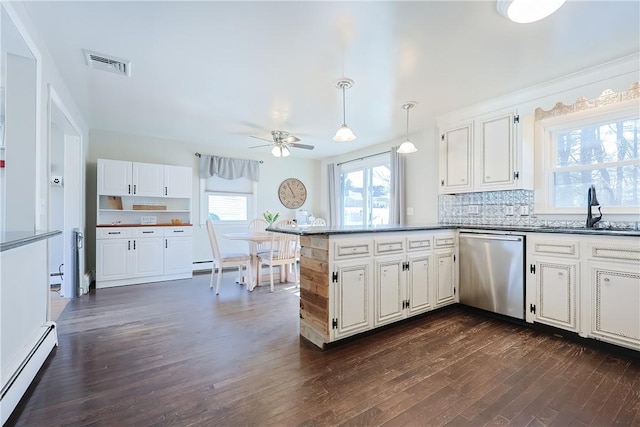
[[[435,121],[427,125],[426,130],[409,135],[409,139],[418,149],[413,154],[405,156],[405,198],[407,209],[413,208],[413,215],[406,216],[407,225],[433,224],[438,222],[438,131]],[[384,151],[392,146],[398,146],[404,140],[388,141],[368,147],[363,150],[352,151],[341,156],[324,159],[320,166],[320,195],[321,208],[313,213],[318,217],[329,218],[327,184],[327,165],[358,159]],[[348,144],[345,142],[343,144]],[[358,161],[358,160],[356,160]]]

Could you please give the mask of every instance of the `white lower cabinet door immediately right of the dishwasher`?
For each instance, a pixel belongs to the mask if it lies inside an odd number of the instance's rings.
[[[576,330],[576,280],[578,261],[562,258],[535,259],[536,321]]]

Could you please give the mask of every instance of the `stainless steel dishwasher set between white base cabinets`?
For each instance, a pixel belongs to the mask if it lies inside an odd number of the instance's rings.
[[[460,302],[524,319],[524,236],[460,232]]]

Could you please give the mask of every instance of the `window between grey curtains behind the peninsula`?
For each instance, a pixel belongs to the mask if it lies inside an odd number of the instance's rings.
[[[341,167],[343,225],[389,224],[391,165],[388,154]]]

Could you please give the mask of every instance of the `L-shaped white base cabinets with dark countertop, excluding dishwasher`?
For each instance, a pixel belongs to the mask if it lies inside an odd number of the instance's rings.
[[[637,230],[443,224],[268,230],[300,236],[300,335],[320,348],[457,303],[458,233],[470,230],[526,236],[527,322],[640,350]]]

